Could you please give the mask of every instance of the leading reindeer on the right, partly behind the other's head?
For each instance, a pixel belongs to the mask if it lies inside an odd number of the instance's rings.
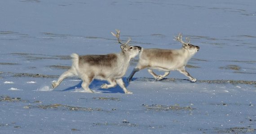
[[[190,38],[186,38],[186,42],[183,42],[181,33],[178,34],[178,37],[174,38],[174,40],[183,44],[181,49],[142,49],[139,54],[139,62],[128,77],[128,81],[132,80],[132,76],[137,71],[148,68],[148,72],[153,75],[156,80],[163,80],[165,76],[170,74],[170,71],[177,70],[189,77],[191,82],[196,82],[197,79],[193,78],[189,72],[185,70],[185,66],[191,57],[199,51],[199,46],[190,44]],[[157,75],[152,69],[158,69],[165,72],[163,75]]]

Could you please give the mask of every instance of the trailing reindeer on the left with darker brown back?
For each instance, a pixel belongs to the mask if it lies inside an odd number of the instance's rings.
[[[140,46],[129,46],[128,43],[121,42],[119,39],[120,31],[116,29],[117,34],[112,33],[121,44],[121,52],[116,54],[106,55],[84,55],[71,54],[72,66],[71,69],[64,72],[56,82],[52,83],[52,88],[56,88],[63,79],[71,76],[78,76],[83,80],[82,88],[86,92],[93,92],[89,88],[89,84],[93,79],[107,80],[110,84],[102,84],[101,88],[112,88],[119,84],[123,88],[124,93],[132,94],[131,91],[124,85],[122,77],[124,76],[129,62],[141,51]]]

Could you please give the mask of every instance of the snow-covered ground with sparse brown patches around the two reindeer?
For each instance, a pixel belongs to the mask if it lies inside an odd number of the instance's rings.
[[[0,0],[0,134],[256,133],[255,0]],[[144,48],[178,49],[179,32],[200,50],[187,71],[155,81],[81,90],[49,88],[69,55],[120,51],[110,32]],[[136,66],[131,62],[124,80]],[[163,74],[157,71],[158,74]]]

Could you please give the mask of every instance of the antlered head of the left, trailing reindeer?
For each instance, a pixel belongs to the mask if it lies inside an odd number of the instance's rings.
[[[130,46],[128,45],[128,43],[131,41],[131,38],[128,39],[128,41],[126,43],[121,42],[120,40],[120,30],[119,29],[115,29],[117,34],[114,34],[111,32],[111,34],[113,34],[113,36],[115,36],[118,40],[118,42],[121,44],[121,49],[122,52],[126,55],[129,55],[130,58],[134,58],[137,54],[139,54],[139,52],[141,52],[141,47],[140,46]]]

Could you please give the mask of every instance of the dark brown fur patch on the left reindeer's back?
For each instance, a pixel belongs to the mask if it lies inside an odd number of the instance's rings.
[[[79,65],[81,63],[88,63],[92,66],[115,66],[113,63],[117,61],[116,54],[106,54],[106,55],[84,55],[79,56]]]

